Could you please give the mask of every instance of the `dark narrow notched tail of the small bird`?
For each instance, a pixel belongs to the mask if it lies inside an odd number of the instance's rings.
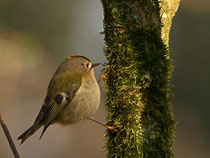
[[[29,129],[27,129],[23,134],[21,134],[18,137],[18,140],[21,140],[20,144],[23,144],[23,142],[29,138],[32,134],[34,134],[39,128],[41,127],[41,125],[35,125],[33,124]]]

